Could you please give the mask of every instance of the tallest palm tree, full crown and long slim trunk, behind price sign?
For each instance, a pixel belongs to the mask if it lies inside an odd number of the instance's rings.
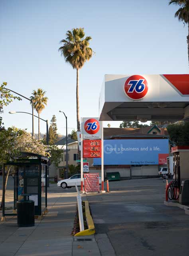
[[[61,56],[64,56],[65,61],[77,70],[77,85],[76,85],[76,105],[77,105],[77,130],[80,131],[79,121],[79,69],[83,67],[87,60],[93,56],[93,50],[89,48],[91,36],[85,36],[84,28],[73,28],[68,30],[66,39],[60,41],[63,46],[59,48]]]

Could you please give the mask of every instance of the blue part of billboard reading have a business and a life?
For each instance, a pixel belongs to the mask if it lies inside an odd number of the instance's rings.
[[[104,165],[159,164],[159,155],[169,154],[168,139],[104,140]],[[100,165],[94,158],[93,165]]]

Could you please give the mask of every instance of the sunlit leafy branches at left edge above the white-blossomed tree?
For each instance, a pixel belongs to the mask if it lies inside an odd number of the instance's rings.
[[[3,113],[3,107],[7,106],[13,100],[22,100],[20,97],[13,96],[9,90],[6,89],[6,82],[3,82],[0,85],[0,114]],[[2,117],[0,116],[0,128],[2,126]]]

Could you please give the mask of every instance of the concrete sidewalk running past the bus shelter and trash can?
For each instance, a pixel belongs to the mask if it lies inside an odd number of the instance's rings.
[[[71,236],[75,218],[77,194],[51,184],[48,192],[49,212],[35,226],[18,228],[17,218],[0,222],[1,256],[98,256],[94,236]],[[85,198],[84,198],[85,199]]]

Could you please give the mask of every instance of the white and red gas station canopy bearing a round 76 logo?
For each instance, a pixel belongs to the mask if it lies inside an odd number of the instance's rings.
[[[189,74],[105,75],[103,121],[189,120]]]

